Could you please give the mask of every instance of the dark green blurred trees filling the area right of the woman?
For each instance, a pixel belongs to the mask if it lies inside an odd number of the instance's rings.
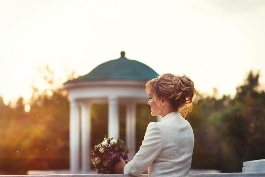
[[[199,95],[187,119],[195,144],[192,168],[241,172],[244,161],[265,158],[265,94],[252,71],[234,99]]]

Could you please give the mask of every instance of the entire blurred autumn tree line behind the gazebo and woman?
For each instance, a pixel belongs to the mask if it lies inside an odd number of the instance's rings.
[[[22,97],[14,107],[5,105],[0,97],[1,174],[69,168],[68,92],[58,85],[48,66],[42,74],[49,87],[40,93],[32,86],[29,112],[24,111]],[[73,77],[71,73],[68,79]],[[265,158],[265,93],[259,88],[259,73],[250,71],[236,89],[233,99],[229,95],[217,99],[217,89],[212,96],[197,93],[187,117],[195,135],[192,168],[241,172],[243,161]],[[148,123],[156,122],[156,117],[151,116],[147,104],[138,104],[136,109],[138,151]],[[93,104],[91,110],[93,147],[107,135],[108,106]],[[120,136],[124,140],[125,114],[125,105],[120,104]]]

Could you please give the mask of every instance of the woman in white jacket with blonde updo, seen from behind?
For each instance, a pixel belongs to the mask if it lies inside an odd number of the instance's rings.
[[[188,176],[194,145],[190,123],[184,118],[191,110],[196,93],[187,76],[163,74],[147,82],[151,115],[161,115],[161,122],[148,124],[144,140],[131,161],[115,165],[118,174],[139,176]],[[184,117],[182,117],[182,116]],[[148,171],[147,171],[148,168]]]

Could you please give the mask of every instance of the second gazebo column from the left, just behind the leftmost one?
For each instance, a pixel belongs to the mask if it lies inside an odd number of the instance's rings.
[[[81,143],[82,143],[82,171],[88,172],[90,163],[90,142],[91,142],[91,104],[84,102],[81,105]]]

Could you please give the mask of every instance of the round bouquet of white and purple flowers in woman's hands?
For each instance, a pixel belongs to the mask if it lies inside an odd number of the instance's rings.
[[[104,136],[103,141],[91,150],[92,163],[89,165],[95,167],[98,174],[116,174],[115,164],[120,161],[120,157],[128,159],[130,152],[131,149],[125,146],[120,137],[116,140]]]

